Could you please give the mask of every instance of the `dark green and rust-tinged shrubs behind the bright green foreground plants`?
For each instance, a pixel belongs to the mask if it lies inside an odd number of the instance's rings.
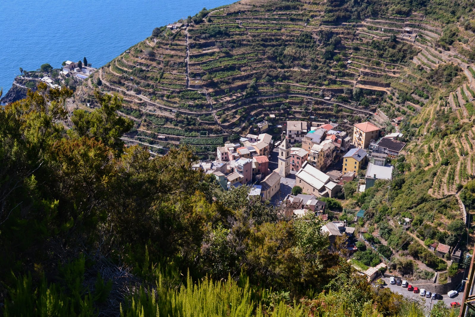
[[[250,200],[246,186],[220,190],[191,168],[196,157],[187,148],[152,159],[145,148],[124,147],[120,137],[132,124],[116,114],[117,96],[96,92],[100,107],[75,111],[65,130],[71,95],[47,93],[41,83],[0,110],[0,276],[11,288],[8,316],[43,311],[33,307],[45,294],[55,297],[51,307],[63,303],[57,311],[79,314],[84,306],[90,315],[111,289],[98,259],[126,263],[144,280],[158,279],[153,263],[161,261],[195,278],[244,270],[253,285],[295,295],[352,274],[328,250],[320,220],[284,221],[268,202]]]

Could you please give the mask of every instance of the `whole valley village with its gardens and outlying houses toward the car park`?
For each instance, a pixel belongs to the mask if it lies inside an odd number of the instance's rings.
[[[399,267],[390,265],[393,251],[381,244],[381,233],[368,233],[368,212],[342,208],[341,203],[346,202],[348,195],[344,192],[345,184],[354,184],[355,191],[360,193],[374,186],[382,187],[389,198],[388,184],[397,173],[395,164],[407,154],[406,142],[400,141],[403,134],[384,134],[384,128],[371,121],[354,124],[352,134],[340,131],[334,123],[287,121],[280,138],[273,139],[266,133],[271,128],[266,121],[258,125],[262,133],[246,134],[238,142],[218,146],[215,160],[200,161],[194,168],[213,175],[223,190],[248,186],[249,199],[269,201],[285,217],[321,218],[321,230],[328,235],[331,248],[343,245],[355,269],[369,281],[388,269],[396,276],[400,274]],[[404,234],[411,234],[417,230],[412,226],[413,220],[408,214],[397,220],[397,226]],[[436,263],[436,270],[442,269],[441,284],[428,282],[432,286],[426,288],[440,293],[440,289],[453,284],[447,284],[445,270],[452,263],[462,265],[464,252],[458,244],[422,243],[433,254],[430,261]],[[361,262],[363,254],[370,257],[369,261],[363,259],[366,264]],[[411,273],[413,279],[437,277],[430,273],[433,269],[423,263],[419,266],[420,273]]]

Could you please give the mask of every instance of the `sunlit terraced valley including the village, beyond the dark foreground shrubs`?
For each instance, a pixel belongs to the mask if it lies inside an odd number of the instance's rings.
[[[349,9],[327,1],[257,2],[157,27],[100,69],[66,61],[14,85],[73,88],[70,114],[98,108],[98,90],[120,96],[127,146],[166,159],[186,145],[220,194],[317,221],[375,288],[393,277],[463,290],[475,241],[468,24],[417,12],[341,22]]]

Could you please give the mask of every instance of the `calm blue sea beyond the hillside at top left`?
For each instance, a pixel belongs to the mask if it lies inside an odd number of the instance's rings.
[[[19,67],[57,68],[84,57],[101,67],[152,29],[236,0],[0,0],[0,87]]]

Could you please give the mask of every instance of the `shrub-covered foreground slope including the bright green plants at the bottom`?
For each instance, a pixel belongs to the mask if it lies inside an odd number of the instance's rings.
[[[424,316],[329,249],[322,219],[223,191],[186,147],[125,147],[117,97],[66,130],[73,92],[47,89],[0,109],[2,315]]]

